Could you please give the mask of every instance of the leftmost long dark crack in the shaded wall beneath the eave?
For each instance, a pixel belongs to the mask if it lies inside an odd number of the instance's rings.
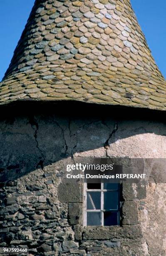
[[[34,116],[29,119],[29,123],[30,123],[32,129],[34,130],[34,138],[35,138],[35,141],[36,141],[36,147],[37,147],[38,151],[41,154],[41,159],[40,159],[39,163],[37,164],[36,168],[41,166],[41,168],[43,170],[43,168],[44,168],[43,163],[44,163],[44,160],[45,160],[45,156],[42,152],[42,149],[39,147],[39,143],[38,143],[38,140],[37,140],[37,131],[39,129],[39,125],[38,125],[37,121],[35,120]]]

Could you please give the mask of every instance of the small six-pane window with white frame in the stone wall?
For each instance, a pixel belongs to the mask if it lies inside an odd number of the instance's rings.
[[[119,225],[119,184],[84,183],[84,225]]]

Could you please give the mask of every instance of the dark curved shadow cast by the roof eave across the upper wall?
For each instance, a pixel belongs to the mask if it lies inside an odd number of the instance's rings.
[[[123,138],[143,133],[166,136],[163,114],[153,110],[79,102],[36,105],[28,102],[2,109],[0,182],[80,152],[99,149],[87,156],[107,157],[111,144]]]

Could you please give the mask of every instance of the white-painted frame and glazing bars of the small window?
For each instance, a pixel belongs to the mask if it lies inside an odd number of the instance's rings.
[[[104,189],[104,183],[101,182],[101,189],[87,189],[87,183],[84,182],[83,187],[83,196],[84,196],[84,206],[83,206],[83,226],[87,226],[87,212],[101,212],[101,225],[104,226],[104,212],[117,212],[117,225],[120,225],[120,211],[119,207],[117,210],[104,210],[104,192],[117,192],[118,193],[118,202],[119,202],[119,190],[115,189]],[[87,210],[87,192],[101,192],[101,209],[100,210]]]

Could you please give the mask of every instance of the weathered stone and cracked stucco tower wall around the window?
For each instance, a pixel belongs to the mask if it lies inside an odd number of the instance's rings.
[[[45,256],[165,256],[165,184],[124,185],[121,226],[83,230],[82,187],[62,179],[77,156],[164,158],[165,131],[159,121],[111,115],[2,119],[0,246],[27,245],[30,255]]]

